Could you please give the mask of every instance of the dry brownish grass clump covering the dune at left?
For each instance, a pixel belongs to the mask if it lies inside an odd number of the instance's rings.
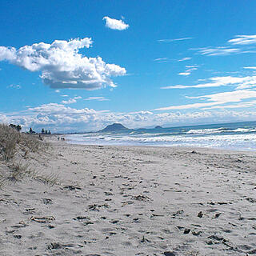
[[[8,182],[20,182],[24,177],[54,186],[58,175],[39,174],[30,169],[30,154],[35,154],[37,158],[47,147],[35,134],[19,133],[10,126],[0,124],[0,164],[5,167],[0,172],[0,188]]]

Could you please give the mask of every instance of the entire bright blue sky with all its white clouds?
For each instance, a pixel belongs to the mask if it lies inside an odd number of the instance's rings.
[[[0,122],[255,121],[255,22],[254,0],[2,0]]]

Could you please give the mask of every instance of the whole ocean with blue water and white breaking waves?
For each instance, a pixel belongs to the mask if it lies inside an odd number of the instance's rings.
[[[185,146],[256,150],[256,122],[67,134],[69,143],[113,146]]]

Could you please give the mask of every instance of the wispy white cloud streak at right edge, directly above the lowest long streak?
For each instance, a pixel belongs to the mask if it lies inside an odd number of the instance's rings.
[[[256,86],[256,76],[247,77],[215,77],[210,78],[210,82],[197,84],[194,86],[164,86],[161,89],[186,89],[186,88],[206,88],[206,87],[218,87],[218,86],[237,86],[236,89],[246,89]]]

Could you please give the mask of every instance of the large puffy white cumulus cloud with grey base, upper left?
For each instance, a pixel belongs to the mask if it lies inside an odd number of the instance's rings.
[[[95,90],[115,86],[110,77],[126,74],[126,69],[107,64],[101,57],[88,58],[79,53],[92,45],[91,38],[40,42],[32,46],[0,46],[0,61],[6,60],[26,70],[40,71],[42,81],[51,88]]]

